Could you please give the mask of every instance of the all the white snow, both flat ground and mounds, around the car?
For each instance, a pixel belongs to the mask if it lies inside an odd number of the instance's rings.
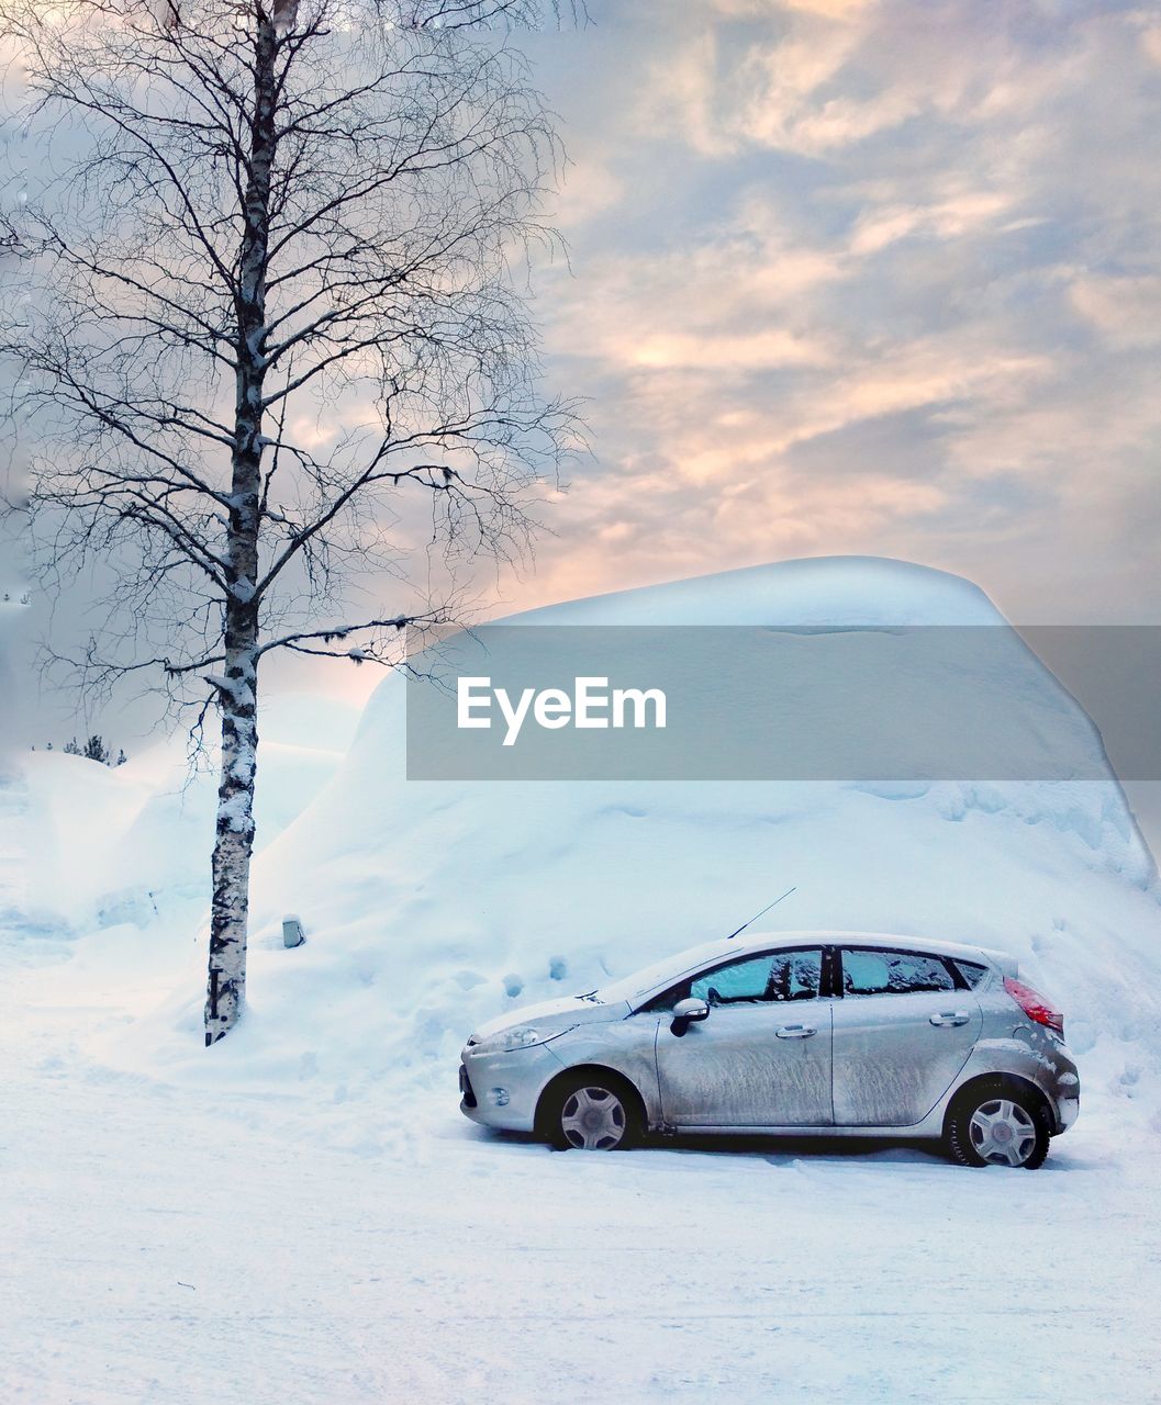
[[[999,622],[963,582],[849,562],[545,622],[856,606]],[[1161,903],[1112,778],[465,794],[402,781],[398,708],[387,680],[346,760],[349,718],[268,711],[253,1005],[208,1054],[205,783],[183,795],[166,752],[38,753],[0,790],[0,1401],[1161,1399]],[[1043,1172],[808,1142],[559,1155],[460,1117],[474,1023],[796,881],[786,927],[1034,964],[1084,1079]]]

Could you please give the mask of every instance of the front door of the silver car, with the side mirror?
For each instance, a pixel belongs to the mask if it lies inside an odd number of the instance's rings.
[[[656,1068],[672,1127],[828,1127],[831,1005],[822,948],[751,954],[686,979],[655,1009],[696,996],[706,1020],[683,1035],[662,1014]]]

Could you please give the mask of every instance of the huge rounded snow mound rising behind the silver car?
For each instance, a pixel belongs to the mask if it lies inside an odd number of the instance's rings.
[[[1008,628],[967,582],[878,559],[729,572],[517,620]],[[1058,719],[1060,686],[1036,677]],[[1027,707],[1026,669],[1019,688]],[[725,934],[791,885],[763,927],[1013,951],[1063,1002],[1089,1090],[1131,1099],[1157,1057],[1161,892],[1110,771],[1020,784],[408,783],[403,693],[401,677],[384,680],[333,780],[256,863],[243,1026],[200,1050],[200,947],[188,984],[118,1033],[118,1057],[174,1078],[306,1079],[343,1102],[439,1089],[443,1103],[475,1024]],[[1095,729],[1067,707],[1102,763]],[[294,951],[281,944],[287,912],[309,934]]]

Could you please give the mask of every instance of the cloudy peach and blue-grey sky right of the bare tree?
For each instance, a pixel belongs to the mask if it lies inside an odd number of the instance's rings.
[[[592,450],[482,614],[853,552],[1015,622],[1161,622],[1161,13],[589,14],[520,42],[569,157],[547,385]],[[329,667],[271,681],[377,681]]]

